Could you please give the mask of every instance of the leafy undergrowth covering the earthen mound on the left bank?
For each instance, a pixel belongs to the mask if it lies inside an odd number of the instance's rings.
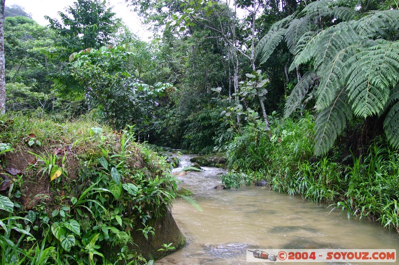
[[[148,221],[165,214],[177,186],[166,157],[134,142],[132,126],[9,113],[0,142],[1,264],[145,262],[131,235],[157,232]]]

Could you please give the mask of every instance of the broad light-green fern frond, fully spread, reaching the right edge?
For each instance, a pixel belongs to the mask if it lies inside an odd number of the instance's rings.
[[[399,83],[399,41],[364,49],[348,63],[347,90],[354,113],[365,118],[380,114],[391,88]]]

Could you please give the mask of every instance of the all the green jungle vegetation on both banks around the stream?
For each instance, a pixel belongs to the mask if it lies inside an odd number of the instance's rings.
[[[1,264],[144,263],[131,235],[157,232],[176,181],[139,141],[224,152],[228,187],[264,180],[399,232],[397,1],[126,2],[152,41],[107,1],[48,27],[7,9]]]

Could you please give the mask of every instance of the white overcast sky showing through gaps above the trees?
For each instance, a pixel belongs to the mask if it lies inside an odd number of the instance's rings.
[[[25,8],[26,13],[32,15],[33,20],[35,20],[40,25],[48,25],[48,21],[44,19],[45,15],[51,18],[59,18],[57,13],[59,11],[64,11],[64,8],[73,5],[75,0],[5,0],[5,5],[10,6],[12,4],[18,4]],[[142,40],[148,41],[152,33],[147,30],[147,27],[143,25],[140,21],[139,16],[132,11],[131,7],[127,6],[124,0],[108,0],[112,9],[117,17],[122,18],[125,24],[130,28],[130,30],[138,35]]]

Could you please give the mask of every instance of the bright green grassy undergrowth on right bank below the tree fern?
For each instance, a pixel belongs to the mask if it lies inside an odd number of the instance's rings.
[[[346,210],[348,217],[379,221],[399,232],[399,154],[381,138],[351,166],[312,157],[314,118],[272,117],[267,133],[247,125],[227,145],[226,187],[265,180],[273,190]]]

